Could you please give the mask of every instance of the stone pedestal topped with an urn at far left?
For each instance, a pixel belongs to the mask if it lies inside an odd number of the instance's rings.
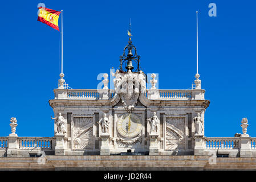
[[[18,135],[15,134],[16,127],[18,126],[17,119],[11,118],[10,122],[11,134],[8,138],[7,157],[17,157],[19,149]]]

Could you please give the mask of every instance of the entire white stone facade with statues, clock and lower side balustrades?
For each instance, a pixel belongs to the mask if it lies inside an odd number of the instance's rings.
[[[145,89],[143,72],[119,72],[115,90],[104,88],[54,89],[49,101],[54,110],[55,137],[18,137],[18,122],[11,118],[11,134],[0,137],[0,156],[42,155],[227,155],[231,158],[256,157],[256,138],[205,137],[205,111],[209,100],[205,90]],[[127,85],[125,85],[127,84]]]

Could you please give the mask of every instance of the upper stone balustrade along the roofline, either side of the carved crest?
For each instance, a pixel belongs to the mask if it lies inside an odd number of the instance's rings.
[[[98,92],[100,91],[100,92]],[[67,99],[67,100],[99,100],[102,99],[102,91],[97,89],[54,89],[55,99]],[[144,96],[151,99],[151,89],[148,89]],[[157,96],[154,99],[157,100],[204,100],[205,90],[161,90],[156,89]],[[113,98],[115,91],[107,89],[105,94],[108,95],[108,99]],[[155,93],[156,94],[156,93]]]

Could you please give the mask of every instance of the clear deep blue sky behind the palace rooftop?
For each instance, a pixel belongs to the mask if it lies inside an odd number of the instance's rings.
[[[54,135],[54,98],[60,72],[60,33],[37,21],[37,5],[63,10],[64,74],[72,88],[96,89],[99,73],[119,67],[132,40],[145,73],[159,73],[160,89],[188,89],[196,73],[196,11],[199,11],[199,73],[205,98],[206,137],[256,137],[256,14],[254,1],[3,1],[0,11],[0,136],[18,120],[20,137]],[[217,17],[208,5],[217,5]],[[59,19],[60,26],[60,19]]]

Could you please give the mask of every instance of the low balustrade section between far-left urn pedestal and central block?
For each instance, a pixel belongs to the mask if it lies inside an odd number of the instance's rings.
[[[52,149],[52,137],[19,137],[19,148],[32,149],[42,148],[43,150]]]

